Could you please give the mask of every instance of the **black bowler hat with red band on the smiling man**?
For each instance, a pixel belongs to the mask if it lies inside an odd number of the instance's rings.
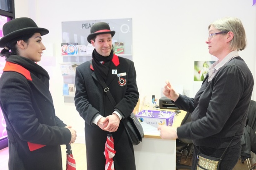
[[[109,25],[106,22],[98,22],[91,26],[91,34],[88,35],[87,41],[91,44],[91,39],[99,34],[111,34],[113,37],[116,31],[111,31]]]

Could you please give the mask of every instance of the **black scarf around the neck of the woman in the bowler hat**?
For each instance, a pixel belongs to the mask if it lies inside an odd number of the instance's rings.
[[[46,84],[49,87],[50,77],[48,72],[32,60],[22,56],[10,55],[6,59],[6,61],[21,65],[22,67],[26,68],[28,71],[37,76],[44,84]]]

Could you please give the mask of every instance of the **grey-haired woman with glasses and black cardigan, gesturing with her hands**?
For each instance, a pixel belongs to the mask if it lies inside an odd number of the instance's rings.
[[[186,138],[194,144],[191,169],[197,169],[199,154],[222,158],[219,169],[233,169],[241,151],[254,79],[238,51],[246,46],[245,30],[238,18],[225,17],[208,26],[209,53],[217,61],[209,67],[201,88],[194,96],[177,93],[166,81],[163,94],[191,115],[178,128],[159,126],[163,139]],[[211,169],[210,167],[206,169]]]

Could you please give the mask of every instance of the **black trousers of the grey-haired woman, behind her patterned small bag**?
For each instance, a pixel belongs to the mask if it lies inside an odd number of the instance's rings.
[[[210,147],[200,147],[200,153],[212,156],[215,158],[220,158],[221,155],[224,153],[226,148],[215,149]],[[193,153],[193,161],[192,161],[192,170],[196,169],[197,163],[197,154],[199,152],[199,146],[194,146],[194,153]],[[236,165],[241,153],[241,141],[239,141],[234,146],[230,146],[226,153],[223,156],[222,161],[220,162],[219,170],[232,170]]]

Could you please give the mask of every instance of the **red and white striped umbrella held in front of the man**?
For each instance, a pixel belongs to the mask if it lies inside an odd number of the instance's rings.
[[[105,144],[105,158],[106,158],[106,165],[105,170],[115,170],[114,168],[114,161],[113,157],[115,156],[116,151],[114,150],[114,139],[112,134],[109,132],[107,136],[107,141]]]

